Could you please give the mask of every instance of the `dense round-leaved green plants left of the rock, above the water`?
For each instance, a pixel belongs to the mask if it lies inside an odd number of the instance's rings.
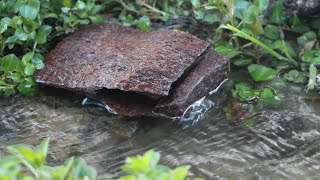
[[[32,95],[53,38],[101,22],[95,0],[0,0],[0,95]]]

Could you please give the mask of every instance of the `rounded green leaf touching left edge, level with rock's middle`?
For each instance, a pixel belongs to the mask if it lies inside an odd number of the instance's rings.
[[[4,73],[8,72],[23,72],[23,63],[18,59],[18,57],[14,54],[9,54],[4,56],[1,61],[1,70]]]

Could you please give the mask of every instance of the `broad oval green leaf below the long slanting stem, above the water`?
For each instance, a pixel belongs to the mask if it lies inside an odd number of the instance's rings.
[[[276,70],[258,64],[251,64],[248,70],[255,81],[267,81],[275,78],[277,75]]]

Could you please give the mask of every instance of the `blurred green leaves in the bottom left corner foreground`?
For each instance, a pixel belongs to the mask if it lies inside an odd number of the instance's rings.
[[[96,179],[95,169],[81,158],[71,157],[60,166],[46,165],[48,146],[48,138],[36,149],[27,145],[9,146],[11,156],[0,158],[0,179]]]

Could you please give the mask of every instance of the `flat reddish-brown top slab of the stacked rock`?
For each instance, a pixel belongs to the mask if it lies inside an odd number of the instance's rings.
[[[42,84],[77,91],[119,89],[155,99],[197,62],[209,43],[182,31],[91,25],[64,38],[36,75]]]

